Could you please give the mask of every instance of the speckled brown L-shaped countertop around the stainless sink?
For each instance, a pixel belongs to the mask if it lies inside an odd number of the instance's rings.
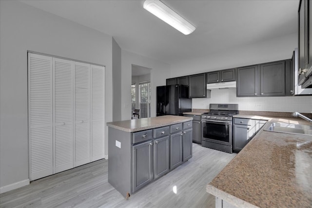
[[[311,125],[294,117],[235,115]],[[270,125],[265,124],[264,128]],[[312,136],[260,130],[206,187],[236,207],[312,207]]]

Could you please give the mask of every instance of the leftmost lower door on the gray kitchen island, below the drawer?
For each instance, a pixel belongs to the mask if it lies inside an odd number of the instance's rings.
[[[152,157],[153,157],[152,140],[142,144],[134,145],[133,148],[133,179],[132,192],[147,185],[153,180]]]

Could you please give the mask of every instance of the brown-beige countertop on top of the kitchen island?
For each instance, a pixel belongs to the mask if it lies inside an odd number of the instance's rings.
[[[177,115],[162,115],[151,118],[140,118],[125,121],[108,122],[106,125],[124,132],[138,132],[157,127],[168,126],[193,120],[192,117]]]

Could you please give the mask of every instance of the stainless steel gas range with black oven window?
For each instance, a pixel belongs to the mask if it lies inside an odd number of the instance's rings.
[[[209,109],[201,115],[201,145],[233,153],[232,120],[238,104],[210,104]]]

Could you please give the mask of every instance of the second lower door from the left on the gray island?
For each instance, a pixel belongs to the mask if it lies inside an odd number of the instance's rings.
[[[154,179],[169,172],[169,141],[169,136],[154,140]]]

